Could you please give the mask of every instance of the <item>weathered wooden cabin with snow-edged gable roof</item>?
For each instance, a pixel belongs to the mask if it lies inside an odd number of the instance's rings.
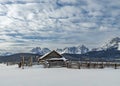
[[[39,63],[44,63],[46,67],[63,67],[66,59],[55,50],[39,58]]]

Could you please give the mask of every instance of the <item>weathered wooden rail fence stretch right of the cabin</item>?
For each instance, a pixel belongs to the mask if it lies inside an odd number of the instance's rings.
[[[120,67],[120,62],[90,62],[90,61],[67,61],[67,68],[81,69],[81,68],[114,68]]]

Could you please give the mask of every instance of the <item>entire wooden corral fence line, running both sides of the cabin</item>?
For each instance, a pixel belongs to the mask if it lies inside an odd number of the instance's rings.
[[[73,69],[90,69],[90,68],[114,68],[118,69],[120,68],[120,61],[65,61],[64,63],[61,62],[48,62],[44,61],[41,63],[33,62],[33,58],[30,57],[27,61],[24,57],[21,58],[20,62],[7,62],[7,65],[13,65],[18,64],[19,68],[24,69],[25,66],[32,66],[32,65],[43,65],[44,68],[51,68],[51,67],[67,67],[67,68],[73,68]]]

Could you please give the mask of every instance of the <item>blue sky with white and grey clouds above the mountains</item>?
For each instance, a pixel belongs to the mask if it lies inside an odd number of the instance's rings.
[[[0,0],[0,52],[28,52],[120,37],[120,0]]]

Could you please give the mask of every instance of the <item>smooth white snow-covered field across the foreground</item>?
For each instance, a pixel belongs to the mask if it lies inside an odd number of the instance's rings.
[[[0,64],[0,86],[120,86],[120,69],[19,69]]]

